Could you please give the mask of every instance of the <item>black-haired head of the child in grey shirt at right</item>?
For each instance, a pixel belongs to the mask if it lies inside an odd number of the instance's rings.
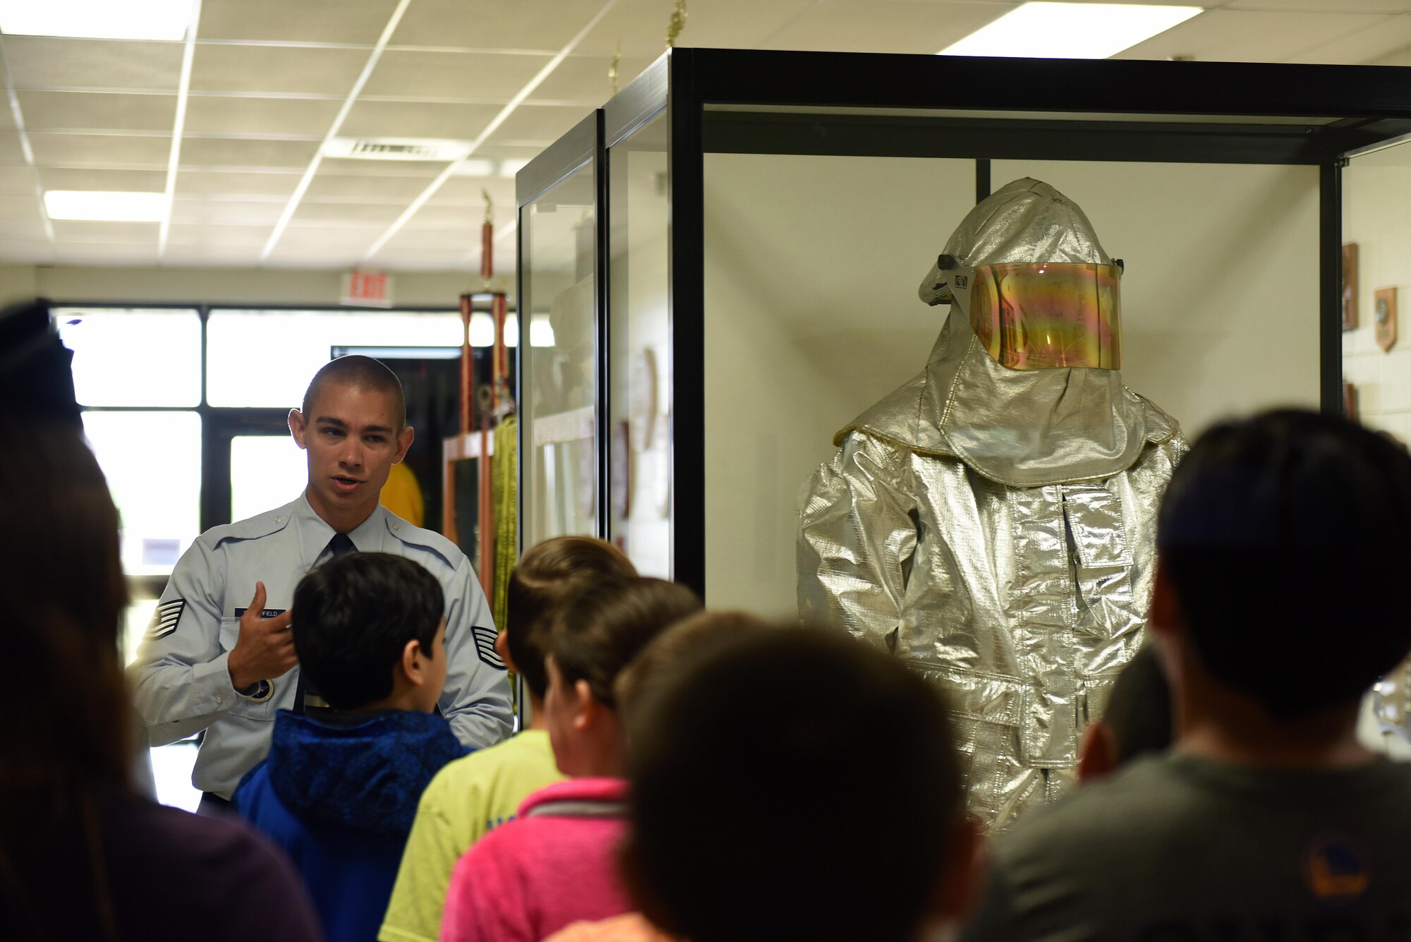
[[[1177,465],[1157,554],[1201,663],[1295,719],[1356,705],[1411,649],[1411,457],[1346,419],[1266,412]]]

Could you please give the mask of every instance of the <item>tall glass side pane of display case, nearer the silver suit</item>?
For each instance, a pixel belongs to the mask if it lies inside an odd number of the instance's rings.
[[[662,113],[608,151],[612,200],[608,233],[612,501],[608,530],[642,575],[660,578],[672,577],[666,131]]]

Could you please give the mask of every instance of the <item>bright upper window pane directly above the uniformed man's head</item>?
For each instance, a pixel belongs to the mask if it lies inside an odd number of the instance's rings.
[[[456,312],[213,310],[206,400],[296,408],[332,347],[460,347],[461,334]]]

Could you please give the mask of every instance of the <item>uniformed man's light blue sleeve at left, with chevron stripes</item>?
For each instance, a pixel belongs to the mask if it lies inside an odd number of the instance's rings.
[[[236,702],[220,643],[223,581],[216,551],[196,540],[176,563],[127,668],[152,746],[205,729]]]

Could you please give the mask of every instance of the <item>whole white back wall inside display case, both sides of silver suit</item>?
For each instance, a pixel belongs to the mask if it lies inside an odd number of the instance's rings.
[[[998,161],[1078,202],[1123,279],[1129,386],[1182,422],[1318,402],[1314,168]],[[916,296],[974,162],[706,158],[707,602],[794,611],[796,498],[831,437],[920,371]]]

